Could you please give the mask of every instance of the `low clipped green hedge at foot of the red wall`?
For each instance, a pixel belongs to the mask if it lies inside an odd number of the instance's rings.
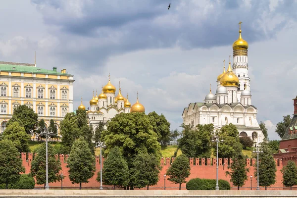
[[[219,180],[219,189],[220,190],[230,190],[230,184],[226,180]],[[187,190],[215,190],[216,186],[216,180],[215,179],[191,179],[189,182],[186,184],[186,189]]]

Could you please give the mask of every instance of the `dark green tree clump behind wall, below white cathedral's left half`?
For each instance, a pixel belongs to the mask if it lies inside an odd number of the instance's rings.
[[[184,124],[182,127],[182,137],[178,140],[178,148],[187,157],[210,157],[213,124],[198,124],[195,129]]]

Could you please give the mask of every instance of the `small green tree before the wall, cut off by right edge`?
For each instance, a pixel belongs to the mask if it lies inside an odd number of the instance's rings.
[[[297,185],[297,166],[295,162],[289,160],[287,166],[281,172],[283,173],[283,184],[292,190],[292,186]]]

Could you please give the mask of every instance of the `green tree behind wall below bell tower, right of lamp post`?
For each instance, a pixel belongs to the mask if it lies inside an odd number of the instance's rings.
[[[237,153],[242,152],[242,145],[239,142],[239,133],[234,124],[230,123],[221,128],[218,132],[220,139],[223,139],[223,143],[219,143],[218,152],[219,157],[233,158]],[[213,144],[216,147],[215,144]]]

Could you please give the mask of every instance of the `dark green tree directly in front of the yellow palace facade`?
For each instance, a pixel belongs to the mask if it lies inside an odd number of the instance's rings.
[[[20,105],[14,109],[12,118],[8,121],[7,126],[13,122],[19,122],[25,128],[27,134],[35,133],[38,126],[38,115],[32,108]]]

